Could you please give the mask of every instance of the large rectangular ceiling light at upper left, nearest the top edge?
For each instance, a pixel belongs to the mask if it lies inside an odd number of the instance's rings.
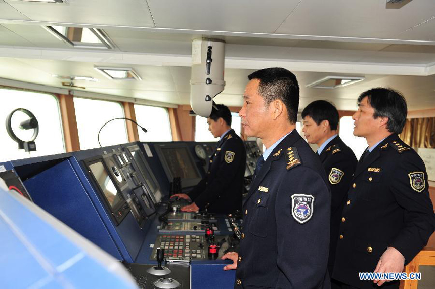
[[[113,49],[115,45],[107,34],[98,28],[42,26],[56,38],[76,48]]]

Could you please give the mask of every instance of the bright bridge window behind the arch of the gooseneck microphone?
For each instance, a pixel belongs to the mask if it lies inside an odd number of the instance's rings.
[[[74,107],[78,139],[82,150],[100,147],[97,139],[100,128],[110,119],[124,117],[121,104],[114,101],[74,97]],[[124,119],[110,121],[100,132],[101,146],[127,142],[128,137]]]

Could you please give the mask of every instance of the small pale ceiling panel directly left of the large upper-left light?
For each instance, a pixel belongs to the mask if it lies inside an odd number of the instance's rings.
[[[49,48],[71,48],[65,42],[57,39],[46,29],[38,25],[3,24],[4,27],[13,31],[22,38],[32,43],[31,46]],[[34,45],[33,45],[34,44]]]

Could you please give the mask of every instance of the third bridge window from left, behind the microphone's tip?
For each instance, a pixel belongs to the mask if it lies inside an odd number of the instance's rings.
[[[166,108],[135,104],[136,121],[148,130],[144,133],[139,127],[139,140],[142,142],[170,142],[169,113]],[[182,123],[180,123],[182,125]]]

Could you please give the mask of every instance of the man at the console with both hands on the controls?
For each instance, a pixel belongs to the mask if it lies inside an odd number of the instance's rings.
[[[188,194],[175,194],[172,198],[193,201],[181,208],[184,212],[234,213],[242,207],[245,145],[231,129],[231,112],[227,106],[213,106],[207,123],[211,134],[221,138],[210,158],[207,175]]]

